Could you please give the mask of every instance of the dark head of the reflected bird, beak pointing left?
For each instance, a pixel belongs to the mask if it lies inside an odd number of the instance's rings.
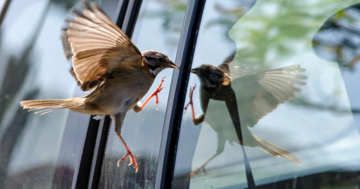
[[[200,78],[201,83],[207,88],[215,88],[219,84],[224,83],[226,76],[216,66],[210,64],[202,64],[197,68],[191,69],[191,73],[194,73]]]

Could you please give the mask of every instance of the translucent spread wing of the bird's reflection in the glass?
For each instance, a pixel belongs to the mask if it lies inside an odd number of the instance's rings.
[[[297,85],[305,85],[307,77],[298,73],[300,66],[289,66],[253,73],[231,82],[235,91],[240,121],[253,127],[260,118],[272,112],[300,91]]]

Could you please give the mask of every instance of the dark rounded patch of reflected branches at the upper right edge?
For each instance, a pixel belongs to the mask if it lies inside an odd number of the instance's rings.
[[[329,17],[312,41],[318,57],[336,61],[350,71],[359,60],[357,51],[360,46],[357,41],[360,32],[356,24],[359,21],[359,5],[350,6]]]

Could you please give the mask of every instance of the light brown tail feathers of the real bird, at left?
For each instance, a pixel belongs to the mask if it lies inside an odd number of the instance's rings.
[[[50,113],[60,109],[74,108],[83,105],[85,98],[76,97],[68,99],[54,99],[54,100],[23,100],[20,101],[20,105],[23,109],[29,109],[30,111],[37,111],[35,113]]]

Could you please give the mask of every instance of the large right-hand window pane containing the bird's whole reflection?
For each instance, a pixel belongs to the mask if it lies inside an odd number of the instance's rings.
[[[356,3],[206,1],[174,188],[359,187]]]

